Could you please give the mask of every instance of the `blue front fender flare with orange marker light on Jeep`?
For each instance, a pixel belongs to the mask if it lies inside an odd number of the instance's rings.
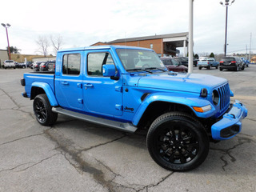
[[[190,110],[193,111],[196,116],[198,116],[198,118],[209,118],[217,113],[215,107],[205,98],[193,97],[192,95],[188,97],[188,94],[156,93],[148,95],[142,104],[138,107],[138,110],[136,111],[132,121],[134,126],[138,126],[138,122],[142,118],[142,115],[146,111],[147,107],[150,106],[150,104],[153,102],[170,102],[188,106]],[[193,110],[193,106],[202,107],[208,105],[211,106],[211,110],[207,112],[199,113]]]

